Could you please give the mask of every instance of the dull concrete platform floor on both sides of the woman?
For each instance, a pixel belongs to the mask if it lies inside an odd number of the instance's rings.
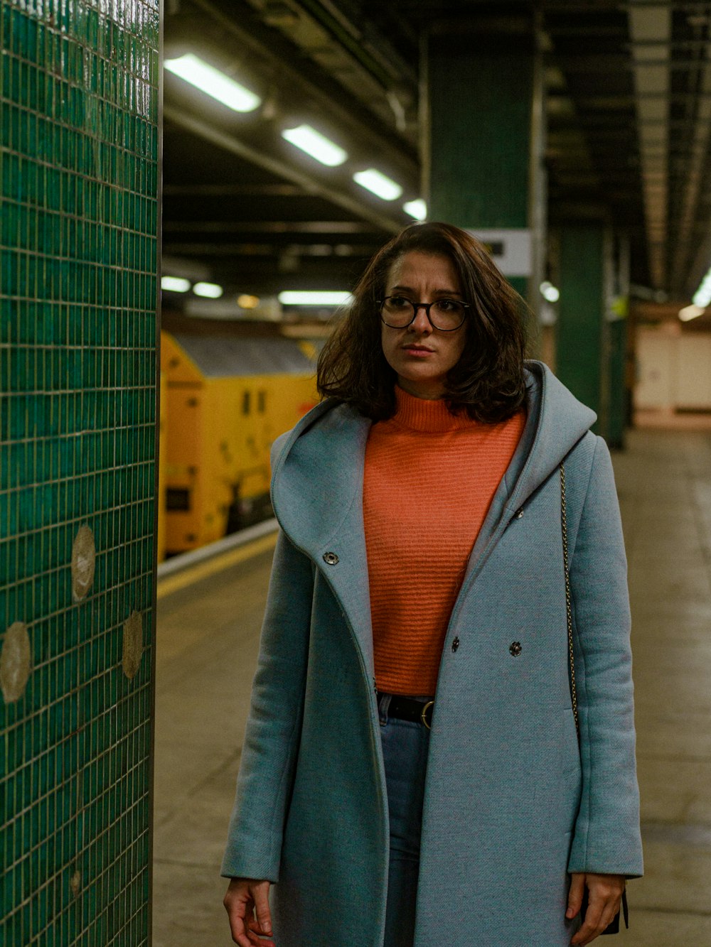
[[[640,429],[613,460],[629,557],[646,874],[629,884],[631,926],[611,943],[711,945],[711,433]],[[269,559],[159,601],[155,947],[232,942],[219,865]]]

